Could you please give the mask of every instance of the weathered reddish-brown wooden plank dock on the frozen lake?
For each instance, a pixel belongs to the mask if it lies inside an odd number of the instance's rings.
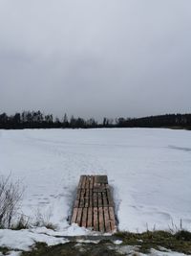
[[[71,223],[99,232],[116,230],[114,201],[107,175],[81,175]]]

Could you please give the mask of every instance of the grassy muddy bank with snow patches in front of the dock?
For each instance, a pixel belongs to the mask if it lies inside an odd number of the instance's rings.
[[[70,243],[54,246],[38,243],[32,251],[24,252],[22,256],[136,256],[151,253],[152,255],[173,255],[173,251],[191,255],[191,233],[186,231],[180,231],[175,235],[164,231],[142,234],[121,232],[112,237],[74,240],[73,238]]]

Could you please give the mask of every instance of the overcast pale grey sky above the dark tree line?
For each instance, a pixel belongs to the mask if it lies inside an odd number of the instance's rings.
[[[0,0],[0,112],[191,112],[190,0]]]

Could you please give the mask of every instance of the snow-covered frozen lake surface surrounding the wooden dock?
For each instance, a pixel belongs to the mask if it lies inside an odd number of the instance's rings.
[[[26,187],[22,210],[64,235],[80,175],[108,175],[118,228],[191,230],[191,132],[151,128],[0,130],[0,175]],[[35,219],[35,218],[34,218]]]

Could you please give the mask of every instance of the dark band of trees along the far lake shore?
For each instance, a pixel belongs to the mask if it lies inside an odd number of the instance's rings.
[[[68,118],[66,113],[62,118],[54,118],[53,114],[44,114],[40,110],[23,111],[14,115],[0,114],[0,128],[191,128],[191,114],[116,119],[104,117],[98,123],[94,118]]]

